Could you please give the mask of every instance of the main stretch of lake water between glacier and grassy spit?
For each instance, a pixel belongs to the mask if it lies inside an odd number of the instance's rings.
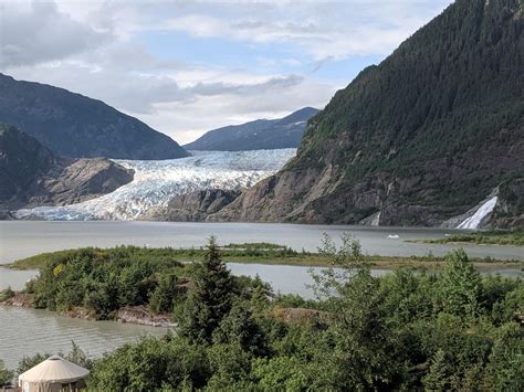
[[[455,230],[368,227],[349,225],[301,225],[279,223],[189,223],[189,222],[35,222],[0,221],[0,264],[41,252],[81,246],[108,247],[122,244],[139,246],[202,246],[210,235],[219,243],[272,242],[297,251],[316,251],[323,233],[338,239],[353,233],[364,252],[385,256],[444,255],[455,245],[415,244],[416,239],[439,239]],[[461,231],[463,232],[463,231]],[[397,236],[390,239],[388,236]],[[524,259],[522,247],[497,245],[463,246],[474,257]]]

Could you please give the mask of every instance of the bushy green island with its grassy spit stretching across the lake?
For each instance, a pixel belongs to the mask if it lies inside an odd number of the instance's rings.
[[[360,246],[349,236],[343,240]],[[325,244],[329,241],[328,236],[323,240]],[[224,263],[336,266],[331,253],[325,250],[318,253],[296,252],[272,243],[213,246]],[[2,292],[0,304],[45,308],[75,318],[171,327],[178,320],[177,306],[184,304],[193,285],[195,273],[207,257],[208,247],[117,246],[42,253],[9,265],[17,269],[39,269],[40,275],[30,280],[22,292]],[[447,257],[431,254],[386,257],[364,255],[359,251],[359,257],[367,266],[381,269],[411,268],[431,273],[448,264]],[[482,258],[471,259],[470,263],[476,269],[524,268],[522,261]],[[245,276],[232,279],[238,290],[262,284],[258,278]]]

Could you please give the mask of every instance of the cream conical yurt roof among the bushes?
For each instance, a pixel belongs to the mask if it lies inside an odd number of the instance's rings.
[[[87,369],[78,367],[62,357],[53,356],[19,375],[25,382],[69,383],[90,374]]]

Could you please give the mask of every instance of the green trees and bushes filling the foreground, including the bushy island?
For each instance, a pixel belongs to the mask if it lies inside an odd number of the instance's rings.
[[[176,335],[102,359],[75,347],[69,358],[91,369],[93,390],[520,390],[521,279],[481,276],[460,250],[440,273],[375,277],[359,243],[343,240],[324,241],[334,268],[314,276],[316,300],[233,277],[214,241],[191,266],[161,252],[151,261],[126,257],[128,248],[111,259],[85,251],[49,261],[29,289],[51,308],[84,304],[109,315],[119,306],[112,298],[177,315]],[[185,277],[191,284],[180,289]],[[18,371],[42,358],[25,358]]]

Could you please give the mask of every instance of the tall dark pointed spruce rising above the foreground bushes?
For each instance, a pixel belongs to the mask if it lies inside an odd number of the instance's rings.
[[[195,288],[186,303],[180,333],[192,341],[211,342],[214,329],[231,309],[232,290],[231,274],[211,236],[203,262],[197,266]]]

